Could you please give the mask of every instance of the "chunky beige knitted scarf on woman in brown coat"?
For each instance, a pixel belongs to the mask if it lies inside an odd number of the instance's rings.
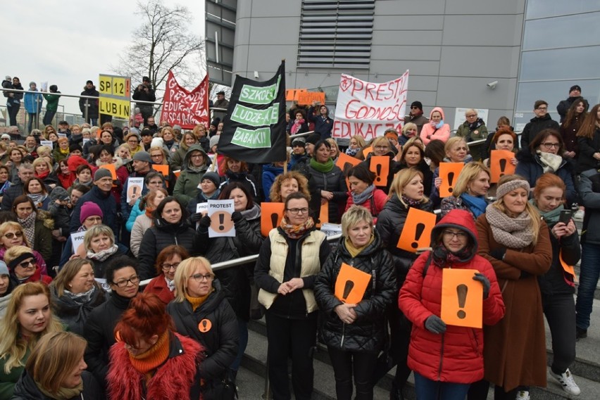
[[[492,226],[494,239],[501,245],[511,249],[522,249],[532,243],[534,238],[531,229],[532,221],[526,211],[516,218],[511,218],[494,205],[488,205],[485,209],[485,218]]]

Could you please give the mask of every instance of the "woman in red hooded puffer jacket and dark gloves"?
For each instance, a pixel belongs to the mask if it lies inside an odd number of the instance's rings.
[[[400,290],[399,307],[413,323],[408,367],[415,372],[418,399],[463,400],[472,382],[483,378],[483,330],[446,325],[442,308],[444,269],[475,269],[483,286],[482,322],[504,316],[496,274],[477,255],[477,230],[470,212],[453,209],[433,228],[432,251],[421,254]]]

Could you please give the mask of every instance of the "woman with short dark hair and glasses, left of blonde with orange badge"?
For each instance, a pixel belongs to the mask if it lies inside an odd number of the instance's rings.
[[[108,350],[115,344],[115,325],[139,291],[137,262],[127,256],[115,257],[104,270],[104,278],[111,288],[107,302],[92,310],[83,329],[87,340],[85,362],[87,370],[106,387]]]

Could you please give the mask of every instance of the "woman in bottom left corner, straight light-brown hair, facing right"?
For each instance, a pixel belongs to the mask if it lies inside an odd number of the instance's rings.
[[[42,336],[15,385],[13,399],[102,399],[98,382],[85,370],[86,345],[85,339],[75,333]]]

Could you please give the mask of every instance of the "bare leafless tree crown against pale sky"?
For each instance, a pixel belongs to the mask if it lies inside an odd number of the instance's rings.
[[[130,76],[132,87],[150,77],[158,89],[156,98],[162,98],[169,70],[182,86],[196,87],[204,71],[204,39],[189,33],[190,13],[184,6],[172,8],[161,0],[138,1],[135,13],[142,25],[133,32],[132,42],[119,64],[112,69],[118,75]],[[132,89],[133,91],[133,89]]]

